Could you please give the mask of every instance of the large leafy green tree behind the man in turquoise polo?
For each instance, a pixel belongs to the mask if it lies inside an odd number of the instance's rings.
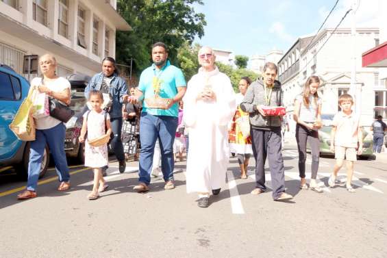
[[[204,35],[205,16],[195,12],[195,3],[203,5],[202,0],[118,0],[117,10],[132,31],[117,32],[117,62],[128,65],[133,58],[138,74],[151,64],[151,44],[162,41],[175,64],[177,49]]]

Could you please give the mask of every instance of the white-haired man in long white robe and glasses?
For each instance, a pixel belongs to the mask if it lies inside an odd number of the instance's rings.
[[[208,207],[210,192],[225,184],[229,163],[227,125],[235,113],[235,93],[229,77],[214,65],[210,47],[198,54],[199,73],[188,81],[184,96],[184,122],[190,129],[187,192],[199,193],[199,207]]]

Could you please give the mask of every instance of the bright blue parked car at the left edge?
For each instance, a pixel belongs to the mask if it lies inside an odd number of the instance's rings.
[[[27,179],[30,143],[18,140],[9,126],[28,91],[29,83],[23,76],[0,64],[0,167],[14,166],[22,179]],[[48,153],[46,146],[39,177],[47,172]]]

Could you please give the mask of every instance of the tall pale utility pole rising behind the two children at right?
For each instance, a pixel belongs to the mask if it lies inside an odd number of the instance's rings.
[[[351,47],[352,47],[352,69],[351,69],[351,88],[349,94],[355,99],[355,112],[360,114],[362,104],[362,86],[356,83],[356,10],[358,9],[358,0],[352,0],[351,6]]]

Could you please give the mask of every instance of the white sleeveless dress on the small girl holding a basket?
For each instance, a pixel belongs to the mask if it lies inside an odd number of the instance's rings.
[[[84,119],[89,112],[84,114]],[[109,114],[106,116],[110,120]],[[87,139],[95,139],[105,134],[105,112],[97,113],[94,110],[90,111],[87,117]],[[88,144],[85,139],[85,166],[90,168],[102,168],[108,166],[108,144],[93,147]]]

